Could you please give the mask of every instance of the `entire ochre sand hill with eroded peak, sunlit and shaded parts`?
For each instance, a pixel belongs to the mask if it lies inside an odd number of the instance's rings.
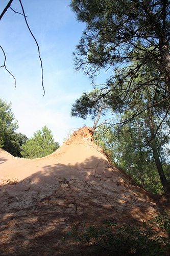
[[[63,243],[72,225],[112,220],[141,226],[163,207],[93,142],[83,127],[53,154],[15,158],[0,150],[0,255],[82,255]]]

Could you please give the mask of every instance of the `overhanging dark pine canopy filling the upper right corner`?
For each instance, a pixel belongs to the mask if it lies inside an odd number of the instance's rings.
[[[169,2],[72,0],[70,6],[78,20],[87,24],[74,53],[76,69],[91,78],[101,69],[112,70],[100,95],[110,98],[107,103],[112,108],[114,102],[114,111],[125,110],[125,99],[130,101],[149,88],[151,105],[143,104],[132,117],[164,104],[165,121],[170,92]],[[151,69],[152,76],[146,75]]]

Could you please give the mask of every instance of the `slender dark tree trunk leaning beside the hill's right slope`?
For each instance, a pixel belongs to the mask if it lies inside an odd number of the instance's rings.
[[[168,182],[164,175],[162,164],[160,162],[158,151],[157,151],[157,144],[155,140],[155,129],[154,129],[154,123],[152,118],[152,109],[149,109],[148,112],[149,112],[149,127],[150,127],[150,133],[151,133],[151,147],[154,155],[154,160],[156,163],[156,167],[158,169],[158,173],[159,173],[159,177],[160,177],[163,189],[165,193],[170,194],[170,186],[168,185]]]

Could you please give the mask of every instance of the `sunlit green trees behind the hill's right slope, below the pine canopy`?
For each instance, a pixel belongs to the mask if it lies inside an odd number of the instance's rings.
[[[124,170],[138,184],[151,194],[162,193],[163,186],[157,171],[150,143],[147,139],[147,129],[140,125],[125,125],[120,131],[118,126],[107,129],[99,127],[94,133],[94,142],[104,148],[105,154],[113,164]],[[162,168],[170,184],[169,153],[166,141],[157,136],[157,145]],[[147,145],[146,145],[147,144]]]

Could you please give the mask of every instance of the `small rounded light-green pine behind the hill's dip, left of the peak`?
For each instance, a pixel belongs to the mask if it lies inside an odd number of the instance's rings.
[[[40,158],[52,154],[59,144],[54,142],[52,131],[45,125],[42,130],[34,133],[25,145],[22,145],[23,158]]]

